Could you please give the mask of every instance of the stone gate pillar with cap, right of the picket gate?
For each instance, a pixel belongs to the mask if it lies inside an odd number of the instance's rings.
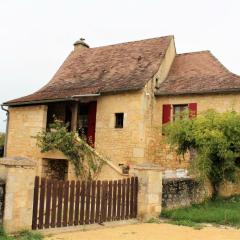
[[[158,165],[135,165],[132,174],[138,177],[137,218],[143,221],[158,217],[162,206],[162,170]]]

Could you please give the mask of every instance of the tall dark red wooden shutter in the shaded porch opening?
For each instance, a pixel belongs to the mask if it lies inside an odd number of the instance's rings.
[[[92,147],[95,143],[97,102],[90,102],[88,107],[88,132],[87,141]]]

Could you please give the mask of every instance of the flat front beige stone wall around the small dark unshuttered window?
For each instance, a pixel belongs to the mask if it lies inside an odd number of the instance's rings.
[[[145,91],[99,97],[96,150],[117,165],[144,161],[146,107]],[[124,113],[123,128],[115,128],[115,113]]]

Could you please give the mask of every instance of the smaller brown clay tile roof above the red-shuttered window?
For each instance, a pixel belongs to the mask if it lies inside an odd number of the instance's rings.
[[[209,51],[178,54],[156,95],[240,91],[240,76],[227,70]]]

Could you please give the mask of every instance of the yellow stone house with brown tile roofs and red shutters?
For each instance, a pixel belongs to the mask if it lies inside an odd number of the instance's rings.
[[[32,138],[56,116],[91,139],[116,168],[146,162],[186,168],[187,160],[179,161],[164,143],[162,125],[186,109],[189,117],[208,108],[240,111],[239,100],[239,76],[209,51],[177,54],[173,36],[96,48],[81,39],[43,88],[3,103],[5,155],[36,160],[42,176],[58,161],[54,171],[73,178],[65,156],[41,153]]]

